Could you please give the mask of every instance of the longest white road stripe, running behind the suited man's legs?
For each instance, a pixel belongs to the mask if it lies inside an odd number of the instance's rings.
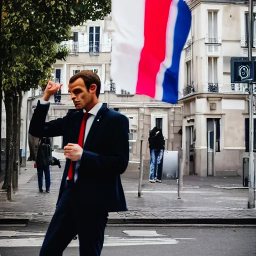
[[[0,247],[40,247],[43,238],[0,239]],[[130,237],[106,237],[103,246],[133,246],[176,244],[172,238],[130,238]],[[78,247],[78,239],[72,240],[68,247]]]

